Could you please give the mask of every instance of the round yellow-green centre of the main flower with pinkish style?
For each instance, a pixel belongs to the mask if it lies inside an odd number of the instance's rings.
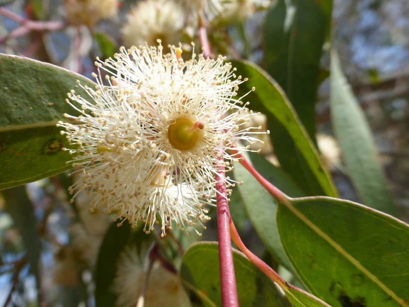
[[[188,118],[178,118],[169,126],[168,138],[172,146],[179,150],[189,150],[196,146],[200,137],[201,122],[194,123]]]

